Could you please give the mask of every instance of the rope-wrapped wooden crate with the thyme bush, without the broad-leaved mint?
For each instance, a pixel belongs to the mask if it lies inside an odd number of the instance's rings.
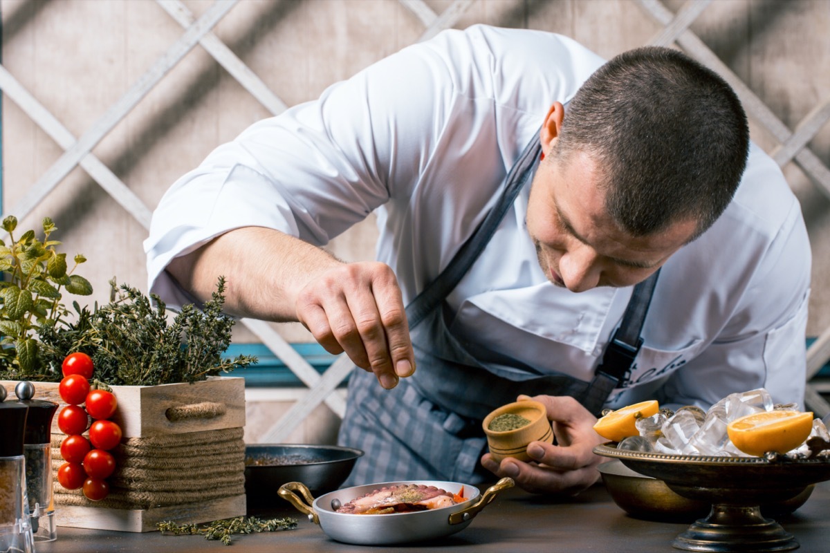
[[[111,420],[123,433],[103,499],[56,484],[58,524],[154,531],[171,518],[196,524],[244,515],[244,379],[219,374],[256,358],[222,357],[234,325],[222,313],[225,279],[202,308],[178,313],[127,284],[110,286],[110,303],[76,307],[75,322],[41,328],[42,356],[52,363],[69,352],[91,357],[95,380],[117,398]],[[66,436],[56,424],[52,431],[59,467]]]

